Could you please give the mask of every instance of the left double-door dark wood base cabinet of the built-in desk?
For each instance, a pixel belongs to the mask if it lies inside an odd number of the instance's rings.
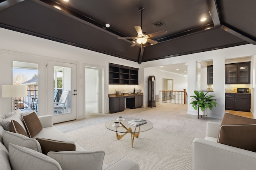
[[[109,97],[109,113],[124,111],[124,97]]]

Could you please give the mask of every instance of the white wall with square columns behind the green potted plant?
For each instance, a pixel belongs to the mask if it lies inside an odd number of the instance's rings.
[[[194,94],[197,84],[197,61],[210,60],[213,61],[213,81],[214,81],[214,92],[212,95],[217,96],[218,106],[214,107],[212,111],[208,112],[208,116],[222,119],[225,113],[225,60],[233,59],[237,57],[253,56],[256,55],[256,45],[240,45],[236,47],[230,47],[225,49],[218,49],[212,51],[206,51],[202,53],[195,53],[190,55],[183,55],[179,57],[171,57],[156,61],[148,61],[142,63],[142,67],[152,66],[164,66],[168,64],[188,63],[188,96]],[[255,62],[254,62],[255,63]],[[253,95],[253,94],[252,94]],[[255,98],[255,97],[254,97]],[[188,97],[188,103],[191,102],[191,98]],[[252,109],[255,107],[251,106]],[[197,111],[192,108],[192,105],[188,105],[188,114],[197,115]]]

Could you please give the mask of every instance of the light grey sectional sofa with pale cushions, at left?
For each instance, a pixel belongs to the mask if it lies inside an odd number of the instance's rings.
[[[53,126],[51,115],[38,118],[42,124],[42,130],[30,139],[24,135],[4,130],[3,127],[6,128],[6,126],[3,123],[7,121],[3,121],[6,119],[0,115],[0,124],[2,123],[3,126],[0,126],[0,170],[139,170],[138,164],[129,158],[122,158],[111,166],[106,165],[103,162],[104,151],[87,151],[75,143]],[[17,114],[14,119],[17,120]],[[40,143],[36,138],[71,143],[75,145],[76,150],[51,151],[45,155],[42,154]]]

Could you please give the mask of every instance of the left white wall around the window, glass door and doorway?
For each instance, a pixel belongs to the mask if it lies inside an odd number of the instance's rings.
[[[77,64],[77,118],[84,118],[84,64],[99,66],[105,68],[104,80],[104,110],[103,113],[109,113],[108,110],[108,63],[126,65],[130,67],[140,68],[140,65],[133,61],[120,59],[110,55],[97,53],[94,51],[42,39],[31,35],[11,31],[8,29],[0,28],[0,85],[12,84],[12,61],[32,62],[39,64],[38,77],[39,77],[39,90],[38,90],[38,113],[39,115],[46,115],[46,63],[47,60],[62,61],[66,63]],[[143,72],[143,70],[142,70]],[[139,70],[139,75],[141,75]],[[2,89],[2,88],[1,88]],[[2,94],[2,90],[1,90]],[[0,96],[2,96],[0,94]],[[9,99],[11,100],[11,99]],[[8,113],[11,107],[8,99],[0,98],[0,114]],[[44,106],[44,107],[40,107]]]

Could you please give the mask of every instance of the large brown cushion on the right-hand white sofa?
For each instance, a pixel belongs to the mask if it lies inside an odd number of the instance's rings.
[[[218,143],[256,152],[256,119],[225,113]]]

